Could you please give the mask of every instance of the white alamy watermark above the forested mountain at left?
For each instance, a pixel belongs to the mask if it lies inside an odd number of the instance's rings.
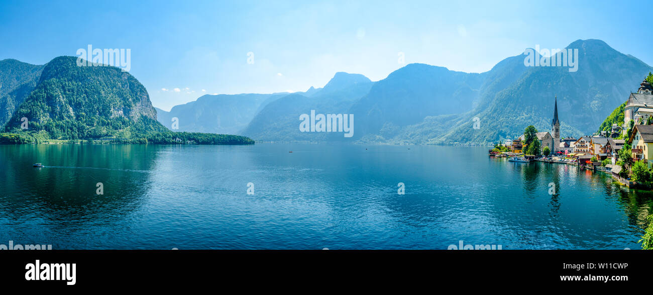
[[[88,44],[88,50],[80,48],[77,50],[77,67],[117,67],[123,72],[129,72],[131,69],[131,49],[111,49],[104,50],[95,48]]]

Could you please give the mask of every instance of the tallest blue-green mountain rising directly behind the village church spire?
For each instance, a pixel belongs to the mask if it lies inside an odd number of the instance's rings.
[[[433,142],[488,144],[517,136],[528,125],[550,131],[555,97],[561,136],[592,134],[653,70],[601,40],[576,40],[567,48],[579,50],[576,72],[566,67],[528,67],[487,106],[460,116],[457,127]],[[523,63],[518,67],[524,67]],[[479,129],[473,129],[475,117],[479,118]]]

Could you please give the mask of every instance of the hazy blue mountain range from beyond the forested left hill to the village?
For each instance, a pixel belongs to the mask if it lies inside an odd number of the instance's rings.
[[[578,50],[576,72],[526,67],[524,54],[480,74],[414,63],[377,82],[338,72],[322,89],[260,97],[205,95],[170,113],[187,130],[228,130],[264,141],[487,144],[514,138],[528,125],[549,131],[557,97],[562,136],[592,134],[653,68],[601,40],[576,40],[567,48]],[[299,116],[311,110],[353,114],[353,138],[300,132]],[[170,126],[170,114],[159,114]],[[475,118],[479,129],[473,128]]]

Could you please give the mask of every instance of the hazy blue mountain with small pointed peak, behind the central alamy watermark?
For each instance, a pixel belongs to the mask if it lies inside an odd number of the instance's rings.
[[[344,114],[353,103],[370,91],[374,85],[361,74],[337,72],[322,89],[306,93],[293,93],[266,105],[242,134],[264,141],[325,141],[335,140],[333,134],[325,132],[300,132],[299,117],[310,114]],[[311,93],[312,92],[312,93]],[[342,134],[338,138],[343,138]]]

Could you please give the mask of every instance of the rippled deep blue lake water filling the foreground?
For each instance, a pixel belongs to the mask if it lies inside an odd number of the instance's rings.
[[[0,244],[447,249],[462,240],[503,249],[641,249],[651,193],[575,166],[490,158],[487,149],[0,146]],[[46,167],[33,168],[37,162]]]

